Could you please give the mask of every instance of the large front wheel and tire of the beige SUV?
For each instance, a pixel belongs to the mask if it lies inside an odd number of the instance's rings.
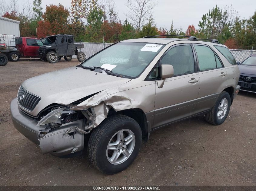
[[[141,128],[134,119],[124,115],[111,116],[93,129],[88,142],[88,157],[101,172],[115,174],[135,160],[141,142]]]

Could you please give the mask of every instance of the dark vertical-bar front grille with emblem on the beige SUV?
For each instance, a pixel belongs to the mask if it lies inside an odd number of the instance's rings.
[[[32,111],[41,100],[41,98],[29,93],[21,86],[18,91],[17,100],[21,107],[25,108],[28,111]]]

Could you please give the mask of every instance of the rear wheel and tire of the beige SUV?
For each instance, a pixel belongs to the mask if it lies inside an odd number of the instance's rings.
[[[222,124],[229,113],[231,106],[231,98],[228,92],[223,91],[217,101],[214,104],[214,107],[211,109],[209,113],[205,115],[205,119],[208,123],[213,125]]]

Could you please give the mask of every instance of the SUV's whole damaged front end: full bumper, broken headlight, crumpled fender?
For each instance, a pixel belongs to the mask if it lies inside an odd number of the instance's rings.
[[[38,120],[22,114],[17,100],[13,100],[10,110],[14,126],[36,143],[43,154],[63,156],[82,151],[85,134],[97,127],[111,109],[117,112],[133,107],[127,94],[115,88],[85,98],[68,105],[55,102],[56,105],[48,106],[38,114]]]

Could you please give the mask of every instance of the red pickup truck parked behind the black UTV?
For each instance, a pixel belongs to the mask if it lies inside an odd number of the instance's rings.
[[[43,45],[42,41],[37,38],[29,37],[16,37],[15,44],[19,52],[17,52],[16,59],[15,56],[10,57],[10,61],[18,61],[20,57],[36,57],[38,58],[38,49]],[[13,54],[13,53],[12,53]]]

